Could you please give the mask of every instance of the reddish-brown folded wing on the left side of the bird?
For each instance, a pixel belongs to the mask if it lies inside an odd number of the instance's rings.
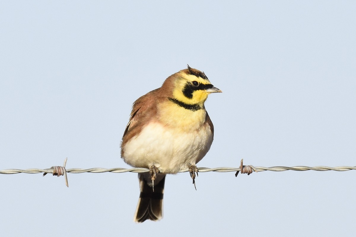
[[[155,95],[158,90],[159,89],[150,91],[133,103],[130,120],[126,126],[124,135],[122,136],[121,148],[127,141],[142,130],[143,125],[147,124],[157,115],[157,96]],[[122,155],[123,151],[121,149],[121,157]]]

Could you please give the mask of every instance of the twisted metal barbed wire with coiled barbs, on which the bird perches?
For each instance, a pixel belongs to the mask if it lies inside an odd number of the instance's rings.
[[[4,169],[0,170],[0,174],[19,174],[19,173],[26,173],[26,174],[38,174],[38,173],[44,173],[43,176],[45,176],[47,173],[51,173],[53,175],[57,175],[58,177],[61,175],[64,175],[64,178],[66,180],[66,185],[68,187],[68,178],[67,178],[67,173],[73,173],[73,174],[80,174],[80,173],[105,173],[105,172],[110,172],[110,173],[126,173],[126,172],[133,172],[133,173],[145,173],[145,172],[150,172],[150,169],[146,168],[90,168],[90,169],[79,169],[79,168],[72,168],[72,169],[66,169],[66,163],[67,163],[67,158],[64,160],[64,165],[63,166],[52,166],[49,169]],[[248,174],[250,175],[252,171],[255,172],[262,172],[262,171],[286,171],[286,170],[294,170],[294,171],[306,171],[306,170],[315,170],[315,171],[328,171],[328,170],[334,170],[334,171],[348,171],[348,170],[356,170],[356,166],[337,166],[337,167],[329,167],[329,166],[293,166],[293,167],[287,167],[287,166],[273,166],[273,167],[260,167],[256,166],[254,167],[253,165],[243,165],[243,159],[241,159],[241,165],[239,168],[233,168],[233,167],[217,167],[217,168],[206,168],[206,167],[199,167],[198,168],[199,172],[204,173],[204,172],[236,172],[235,176],[241,172],[242,174]],[[182,169],[178,173],[184,173],[184,172],[189,172],[189,169]]]

